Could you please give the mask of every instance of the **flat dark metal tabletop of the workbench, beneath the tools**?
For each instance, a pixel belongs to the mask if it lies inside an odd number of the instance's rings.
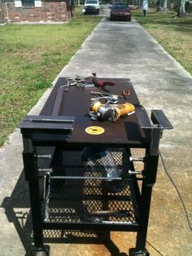
[[[119,104],[129,102],[139,107],[139,100],[133,85],[129,79],[121,78],[98,78],[99,81],[116,82],[115,86],[106,86],[109,90],[108,93],[121,95],[122,90],[129,90],[130,95],[128,99],[119,99]],[[56,82],[50,97],[47,99],[46,104],[41,110],[41,115],[51,116],[55,113],[55,106],[58,108],[58,116],[73,116],[75,117],[72,132],[66,136],[65,142],[67,143],[101,143],[111,146],[126,145],[126,144],[143,144],[147,142],[146,136],[140,129],[137,121],[137,115],[133,113],[130,116],[120,117],[117,121],[94,121],[89,117],[89,105],[91,91],[103,92],[97,87],[78,89],[76,86],[68,87],[68,91],[64,91],[67,81],[64,77],[60,77]],[[60,100],[60,103],[57,103]],[[140,109],[141,110],[141,109]],[[143,112],[143,115],[146,115]],[[145,116],[145,118],[148,118]],[[85,129],[89,126],[98,126],[103,128],[104,132],[101,135],[89,135]],[[57,136],[59,139],[59,135]],[[60,137],[61,138],[61,137]]]

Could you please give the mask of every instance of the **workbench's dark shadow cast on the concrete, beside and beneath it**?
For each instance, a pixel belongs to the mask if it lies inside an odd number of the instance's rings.
[[[24,178],[24,171],[15,185],[11,196],[6,196],[1,208],[5,209],[5,214],[10,223],[14,224],[15,230],[20,237],[25,249],[25,256],[32,254],[33,249],[33,226],[30,212],[30,201],[28,194],[28,183]],[[70,244],[93,244],[105,245],[111,255],[127,256],[120,253],[120,250],[111,241],[110,232],[74,232],[63,230],[45,230],[44,243],[70,243]]]

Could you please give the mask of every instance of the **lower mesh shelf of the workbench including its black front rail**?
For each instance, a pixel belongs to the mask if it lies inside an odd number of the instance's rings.
[[[107,179],[102,166],[85,166],[80,151],[55,153],[42,204],[45,229],[137,231],[138,206],[127,152],[113,148],[111,154],[120,174],[116,179]]]

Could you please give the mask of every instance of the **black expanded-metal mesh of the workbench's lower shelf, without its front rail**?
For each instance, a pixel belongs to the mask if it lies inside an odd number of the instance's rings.
[[[120,175],[127,172],[129,166],[125,161],[127,156],[124,150],[112,149],[111,154]],[[79,151],[58,151],[55,156],[54,177],[50,179],[47,222],[136,222],[131,183],[128,180],[97,179],[104,175],[102,168],[90,170],[81,161]],[[68,179],[63,179],[63,176]],[[95,179],[90,179],[92,177]]]

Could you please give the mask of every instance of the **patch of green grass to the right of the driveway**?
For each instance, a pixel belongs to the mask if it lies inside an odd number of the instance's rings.
[[[192,13],[175,15],[172,11],[157,13],[150,9],[143,17],[142,10],[133,10],[135,20],[192,74]]]

